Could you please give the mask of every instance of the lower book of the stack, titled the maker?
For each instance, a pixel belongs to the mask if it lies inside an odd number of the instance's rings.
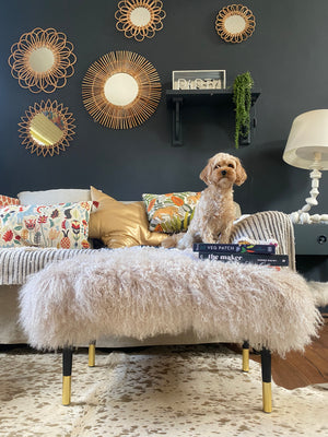
[[[288,255],[268,255],[268,253],[234,253],[234,252],[214,252],[214,251],[199,251],[200,259],[210,259],[223,262],[249,262],[253,264],[261,265],[278,265],[288,267]]]

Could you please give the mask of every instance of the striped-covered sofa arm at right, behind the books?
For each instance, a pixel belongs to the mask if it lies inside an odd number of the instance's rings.
[[[276,239],[279,245],[277,253],[288,255],[290,268],[296,270],[294,227],[288,214],[265,211],[242,218],[234,225],[231,243],[237,243],[245,237],[251,240]]]

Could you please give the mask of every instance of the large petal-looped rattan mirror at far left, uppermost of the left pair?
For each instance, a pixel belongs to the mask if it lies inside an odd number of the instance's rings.
[[[12,45],[8,59],[11,74],[32,93],[52,93],[74,74],[77,57],[73,48],[63,33],[36,27]]]

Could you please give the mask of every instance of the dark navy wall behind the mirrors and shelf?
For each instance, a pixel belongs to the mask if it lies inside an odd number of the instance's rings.
[[[218,0],[164,0],[163,31],[137,43],[115,27],[117,1],[11,0],[0,14],[0,192],[50,188],[103,189],[117,199],[140,199],[142,192],[200,190],[198,179],[207,160],[224,151],[242,158],[247,182],[236,188],[243,212],[277,209],[291,212],[308,196],[307,172],[282,161],[290,127],[298,114],[328,107],[327,0],[248,0],[256,31],[243,44],[226,44],[214,29]],[[75,74],[52,94],[32,94],[19,86],[8,66],[10,47],[34,27],[55,27],[73,43]],[[159,108],[144,125],[110,130],[94,122],[83,107],[81,83],[89,66],[102,55],[126,49],[144,56],[157,69],[163,85]],[[225,69],[227,84],[251,72],[261,96],[256,105],[258,127],[248,147],[233,146],[231,109],[185,108],[181,147],[171,145],[171,114],[165,90],[173,70]],[[30,154],[22,145],[17,123],[30,105],[57,99],[75,118],[77,134],[59,156]],[[328,210],[328,175],[321,179],[320,208]],[[326,187],[327,188],[327,187]]]

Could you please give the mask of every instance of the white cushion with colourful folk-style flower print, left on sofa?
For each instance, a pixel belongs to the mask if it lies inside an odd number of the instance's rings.
[[[0,247],[89,248],[92,202],[0,209]]]

